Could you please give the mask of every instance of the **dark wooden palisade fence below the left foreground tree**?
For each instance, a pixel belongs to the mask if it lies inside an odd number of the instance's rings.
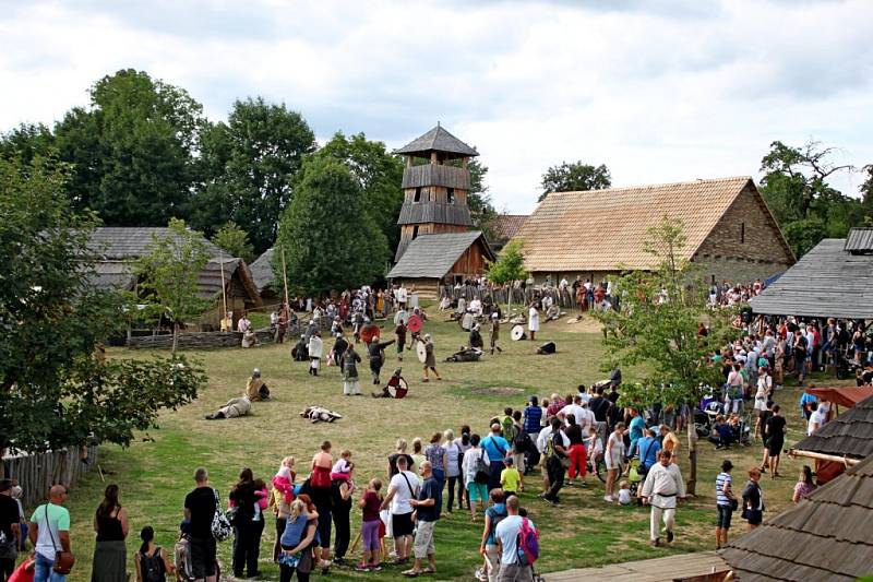
[[[52,485],[72,487],[97,464],[97,444],[60,449],[45,453],[16,453],[3,456],[4,478],[19,479],[21,502],[31,507],[48,498]]]

